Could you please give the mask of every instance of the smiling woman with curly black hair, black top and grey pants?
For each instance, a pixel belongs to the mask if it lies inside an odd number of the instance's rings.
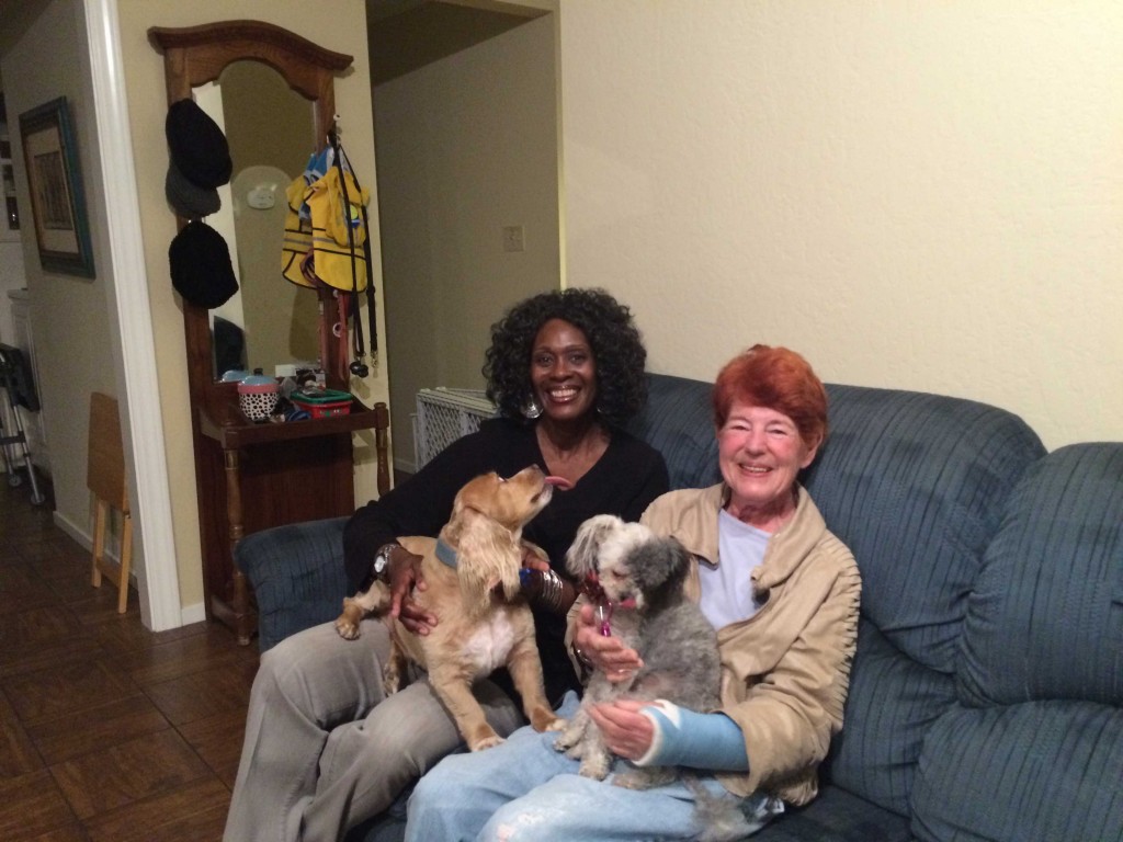
[[[416,633],[438,619],[408,597],[420,559],[399,536],[436,536],[456,492],[490,472],[510,476],[536,464],[564,482],[523,530],[546,551],[526,562],[548,697],[579,686],[565,651],[565,616],[576,587],[565,552],[595,514],[639,520],[668,489],[667,467],[623,424],[647,399],[647,358],[631,312],[602,290],[564,290],[515,304],[492,327],[484,376],[499,417],[453,442],[416,476],[367,503],[344,533],[351,592],[389,579],[394,612]],[[537,569],[535,569],[537,568]],[[542,569],[545,568],[545,569]],[[423,678],[384,696],[386,626],[363,622],[358,640],[331,623],[294,634],[262,656],[246,722],[241,765],[225,839],[343,839],[355,825],[400,821],[408,787],[462,744]],[[477,683],[500,734],[522,724],[502,671]],[[395,803],[395,798],[398,802]],[[394,815],[385,815],[387,807]]]

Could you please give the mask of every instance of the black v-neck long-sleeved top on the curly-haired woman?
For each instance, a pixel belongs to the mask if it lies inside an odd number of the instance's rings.
[[[431,536],[453,511],[456,493],[473,477],[495,470],[511,476],[528,465],[549,473],[532,424],[510,419],[484,421],[480,431],[454,441],[418,474],[381,500],[359,509],[344,532],[344,557],[351,589],[371,571],[375,551],[399,536]],[[567,491],[555,489],[549,505],[523,530],[523,538],[541,547],[550,567],[568,578],[565,553],[577,528],[596,514],[617,514],[638,521],[657,496],[669,489],[667,466],[650,445],[614,429],[596,464]],[[577,677],[565,653],[565,617],[535,613],[547,697],[560,701],[577,688]]]

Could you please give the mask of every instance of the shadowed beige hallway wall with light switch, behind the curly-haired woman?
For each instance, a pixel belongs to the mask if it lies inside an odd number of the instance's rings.
[[[491,324],[560,284],[556,16],[375,89],[394,458],[419,388],[483,388]],[[504,226],[526,250],[508,253]]]

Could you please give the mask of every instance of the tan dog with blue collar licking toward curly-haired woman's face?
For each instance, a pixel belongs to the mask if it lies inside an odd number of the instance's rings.
[[[420,663],[472,751],[503,742],[472,695],[472,684],[499,667],[510,671],[536,731],[565,724],[546,701],[535,620],[520,597],[519,582],[522,528],[550,502],[554,485],[563,483],[535,465],[510,479],[494,472],[484,474],[456,495],[451,520],[440,538],[400,539],[405,549],[422,557],[426,587],[412,596],[437,615],[429,634],[413,634],[391,620],[390,588],[381,582],[344,600],[343,614],[336,620],[339,634],[353,640],[367,613],[383,615],[391,631],[391,652],[383,670],[386,693],[401,687],[407,661]]]

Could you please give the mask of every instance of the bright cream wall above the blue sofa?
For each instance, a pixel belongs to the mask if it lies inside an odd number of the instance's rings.
[[[562,0],[568,285],[1123,439],[1123,4]]]

